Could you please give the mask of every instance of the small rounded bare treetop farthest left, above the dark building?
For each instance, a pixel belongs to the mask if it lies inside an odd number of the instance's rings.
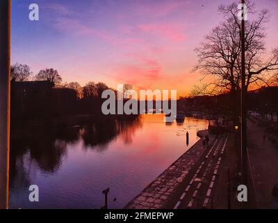
[[[10,66],[10,77],[12,81],[24,82],[32,75],[30,67],[26,64],[15,63]]]

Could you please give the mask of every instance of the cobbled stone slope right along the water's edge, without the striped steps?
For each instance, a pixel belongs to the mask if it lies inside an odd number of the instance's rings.
[[[216,136],[209,134],[208,130],[197,132],[197,136],[200,138],[206,134],[208,134],[211,142],[214,141]],[[207,151],[207,147],[203,146],[202,140],[199,139],[186,153],[183,153],[170,167],[145,187],[138,196],[127,203],[124,208],[172,208],[179,192],[186,185],[188,179],[192,178],[191,175],[204,157],[205,151]]]

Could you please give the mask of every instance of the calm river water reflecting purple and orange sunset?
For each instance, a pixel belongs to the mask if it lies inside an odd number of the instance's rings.
[[[11,140],[10,208],[122,208],[199,139],[207,121],[163,115],[86,127],[24,130]],[[190,144],[186,146],[186,131]],[[28,201],[29,185],[40,201]],[[113,201],[113,199],[115,199]]]

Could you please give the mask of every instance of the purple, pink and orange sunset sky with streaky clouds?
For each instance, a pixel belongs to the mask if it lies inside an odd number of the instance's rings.
[[[63,82],[104,82],[113,88],[177,89],[187,95],[200,75],[190,70],[194,52],[221,20],[221,3],[232,0],[13,0],[12,63],[34,74],[55,68]],[[256,0],[267,8],[268,49],[278,46],[278,1]],[[28,20],[38,3],[40,20]]]

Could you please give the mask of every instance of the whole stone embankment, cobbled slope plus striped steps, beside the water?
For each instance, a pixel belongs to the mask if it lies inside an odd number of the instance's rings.
[[[198,132],[199,137],[205,134]],[[208,146],[197,141],[124,208],[209,208],[228,136],[208,135]]]

